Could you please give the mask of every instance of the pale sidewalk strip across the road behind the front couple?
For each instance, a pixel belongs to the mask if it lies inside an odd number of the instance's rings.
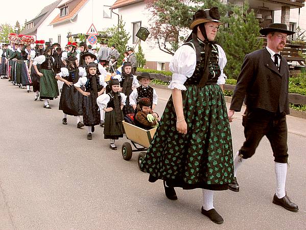
[[[166,86],[163,85],[152,85],[156,93],[158,95],[158,99],[162,101],[168,101],[171,90],[168,89]],[[226,103],[227,108],[229,108],[230,103]],[[245,106],[241,109],[242,112],[235,112],[234,119],[238,119],[242,121],[242,114],[245,110]],[[306,137],[306,119],[297,118],[293,116],[287,116],[287,125],[288,125],[288,132]]]

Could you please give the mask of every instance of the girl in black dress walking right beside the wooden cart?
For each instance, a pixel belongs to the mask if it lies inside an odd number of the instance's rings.
[[[105,111],[104,139],[110,139],[109,148],[116,150],[115,140],[123,137],[124,133],[122,108],[125,105],[127,97],[123,93],[119,93],[119,80],[110,80],[108,86],[110,87],[110,92],[99,96],[97,98],[97,104],[100,110],[103,109]]]

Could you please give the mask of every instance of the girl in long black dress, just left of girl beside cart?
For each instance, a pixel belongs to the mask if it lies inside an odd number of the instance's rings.
[[[100,124],[100,112],[96,100],[105,90],[104,78],[97,75],[97,64],[89,63],[87,76],[79,78],[74,85],[83,95],[83,121],[88,129],[87,140],[92,140],[92,132],[95,131],[95,125]],[[85,91],[81,89],[82,85],[85,86]]]

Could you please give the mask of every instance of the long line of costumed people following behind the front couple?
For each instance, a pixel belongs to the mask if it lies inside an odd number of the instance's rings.
[[[32,86],[34,101],[43,101],[46,109],[51,109],[49,101],[60,96],[62,124],[68,124],[68,115],[76,117],[77,128],[86,126],[87,140],[92,140],[96,125],[104,126],[104,139],[110,139],[110,149],[116,150],[115,140],[124,134],[124,117],[137,111],[143,112],[139,122],[135,121],[138,126],[149,129],[156,125],[157,94],[149,86],[152,78],[147,73],[133,75],[131,62],[109,73],[85,42],[78,47],[69,41],[62,51],[58,43],[34,42],[31,36],[10,34],[9,39],[0,53],[1,78],[20,88],[27,86],[28,93]],[[60,90],[58,81],[63,83]],[[147,114],[153,114],[151,121]]]

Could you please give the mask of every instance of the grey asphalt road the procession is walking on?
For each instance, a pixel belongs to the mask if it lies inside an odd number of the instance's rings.
[[[178,200],[168,200],[162,181],[150,183],[139,171],[138,153],[124,160],[125,138],[110,150],[103,128],[96,126],[88,141],[73,117],[61,124],[59,98],[44,109],[32,92],[7,80],[0,89],[0,229],[306,229],[306,137],[288,135],[287,192],[298,213],[272,204],[274,162],[263,139],[238,173],[240,192],[215,192],[225,220],[217,225],[200,212],[200,189],[176,189]],[[165,105],[159,100],[159,113]],[[241,120],[231,132],[236,152],[244,141]]]

